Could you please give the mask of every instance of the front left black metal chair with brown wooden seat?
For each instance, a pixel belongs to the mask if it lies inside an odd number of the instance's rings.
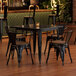
[[[16,49],[17,51],[17,56],[18,56],[18,66],[20,66],[20,62],[21,62],[21,57],[22,57],[22,51],[24,48],[27,48],[30,50],[30,55],[31,55],[31,60],[32,60],[32,64],[33,62],[33,58],[32,58],[32,52],[31,52],[31,45],[30,42],[24,42],[24,41],[17,41],[16,40],[16,33],[13,32],[7,32],[8,37],[9,37],[9,41],[11,42],[10,44],[10,52],[9,52],[9,56],[7,59],[7,65],[9,63],[9,59],[10,59],[10,55],[12,54],[12,59],[14,57],[14,51]]]

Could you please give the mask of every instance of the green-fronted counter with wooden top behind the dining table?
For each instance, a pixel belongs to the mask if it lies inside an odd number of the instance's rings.
[[[39,22],[40,26],[46,27],[46,25],[48,25],[48,15],[52,11],[55,10],[48,10],[48,9],[36,10],[35,21]],[[32,16],[32,14],[33,14],[33,10],[8,10],[8,15],[7,15],[8,26],[23,25],[24,16]],[[0,17],[3,17],[3,12],[0,13]],[[51,24],[51,20],[50,20],[50,24]],[[5,27],[5,23],[3,23],[3,36],[6,36],[7,34],[4,27]]]

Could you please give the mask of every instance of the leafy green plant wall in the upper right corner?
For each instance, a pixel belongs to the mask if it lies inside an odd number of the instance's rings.
[[[56,0],[57,2],[58,0]],[[60,20],[63,22],[71,22],[72,21],[72,2],[71,0],[60,0]]]

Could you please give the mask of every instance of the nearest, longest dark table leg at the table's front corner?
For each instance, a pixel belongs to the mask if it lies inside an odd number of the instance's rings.
[[[41,64],[41,48],[42,48],[42,33],[41,31],[38,31],[38,56],[40,64]]]

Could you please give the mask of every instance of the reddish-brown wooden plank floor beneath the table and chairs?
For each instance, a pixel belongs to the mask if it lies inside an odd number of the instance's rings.
[[[74,36],[71,38],[70,42],[73,63],[70,62],[68,52],[66,52],[64,66],[62,66],[60,58],[58,61],[56,60],[53,49],[50,52],[48,64],[45,63],[47,53],[44,56],[43,51],[45,47],[46,35],[43,35],[42,39],[42,63],[39,64],[38,62],[38,49],[36,49],[36,55],[33,56],[34,65],[31,63],[30,55],[27,55],[26,51],[23,50],[20,68],[17,63],[16,52],[14,60],[10,59],[9,65],[6,66],[7,57],[5,56],[5,53],[8,39],[3,39],[2,43],[0,42],[0,76],[76,76],[76,45],[73,44]]]

